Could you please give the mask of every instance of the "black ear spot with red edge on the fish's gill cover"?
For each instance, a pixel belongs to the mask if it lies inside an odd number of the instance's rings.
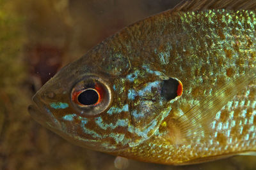
[[[161,96],[163,96],[167,101],[175,99],[182,95],[182,83],[176,78],[169,78],[163,81]]]

